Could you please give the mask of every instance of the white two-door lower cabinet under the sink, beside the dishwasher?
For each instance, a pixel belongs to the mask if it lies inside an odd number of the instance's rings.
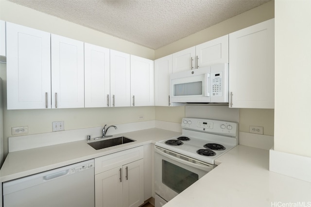
[[[143,204],[142,158],[143,146],[95,159],[95,207],[139,207]]]

